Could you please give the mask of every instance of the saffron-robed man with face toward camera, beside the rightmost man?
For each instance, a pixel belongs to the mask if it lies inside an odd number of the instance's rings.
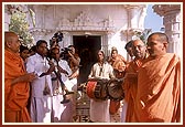
[[[134,55],[134,60],[131,61],[126,68],[126,76],[123,83],[124,100],[128,104],[128,107],[126,109],[126,123],[131,121],[133,117],[134,100],[137,97],[138,89],[137,73],[140,66],[142,65],[142,61],[148,57],[146,47],[141,40],[132,41],[132,52]]]

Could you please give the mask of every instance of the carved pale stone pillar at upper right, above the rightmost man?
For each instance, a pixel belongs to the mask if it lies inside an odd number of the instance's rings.
[[[163,17],[163,25],[165,27],[165,33],[168,36],[167,52],[181,54],[181,4],[155,4],[153,6],[154,12],[160,17]]]

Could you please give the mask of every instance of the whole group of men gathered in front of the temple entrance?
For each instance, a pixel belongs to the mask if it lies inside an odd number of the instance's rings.
[[[14,32],[4,32],[4,121],[73,123],[80,63],[75,46],[68,46],[64,60],[59,47],[48,49],[45,40],[32,52],[20,41]],[[179,123],[181,62],[167,53],[167,44],[161,32],[150,34],[146,44],[132,40],[124,49],[129,61],[116,47],[109,59],[99,50],[88,81],[121,78],[116,93],[123,98],[91,97],[89,121],[110,123],[123,103],[119,123]]]

